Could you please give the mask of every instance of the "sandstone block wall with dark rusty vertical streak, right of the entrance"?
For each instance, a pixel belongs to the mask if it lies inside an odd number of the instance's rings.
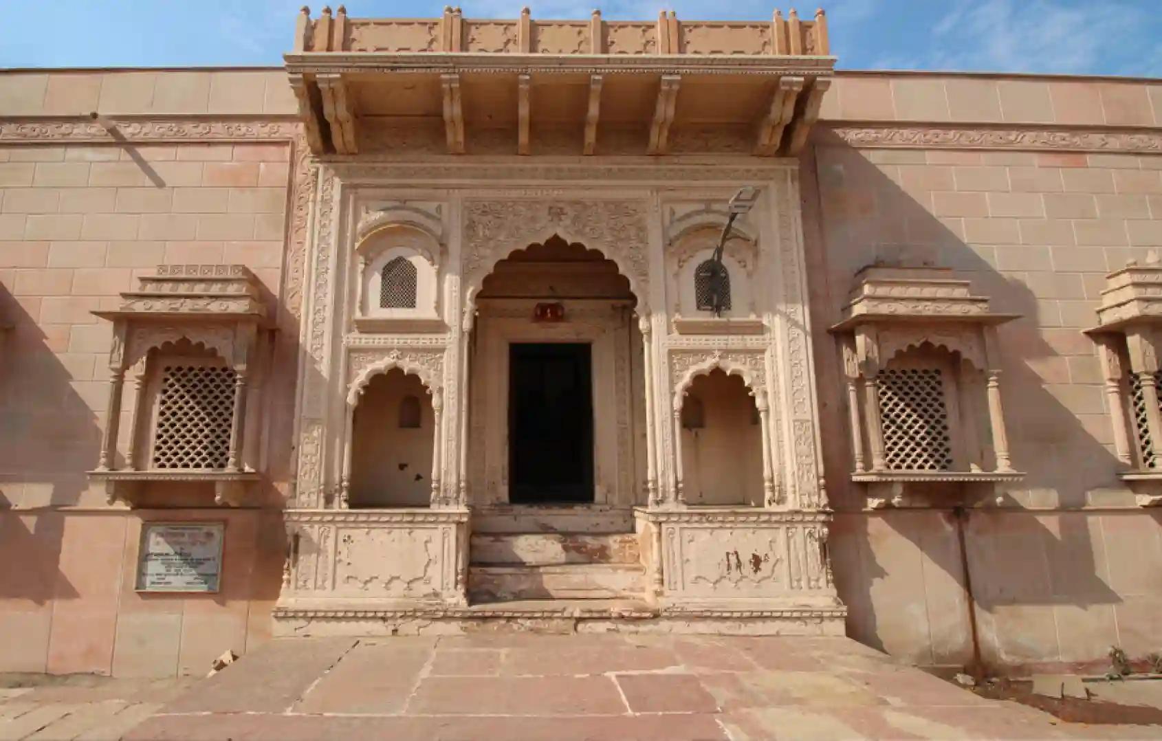
[[[827,490],[840,510],[831,553],[849,634],[918,663],[973,655],[951,509],[861,511],[848,481],[839,357],[824,332],[854,273],[878,260],[956,268],[994,310],[1023,315],[999,331],[1013,465],[1028,475],[1006,487],[1005,505],[962,520],[982,659],[1100,664],[1112,645],[1134,657],[1157,650],[1162,516],[1136,508],[1117,479],[1082,330],[1097,323],[1105,274],[1162,250],[1162,85],[849,74],[823,116],[804,159],[804,208]],[[1049,136],[1111,129],[1152,135],[1154,152],[1097,139],[1070,151]]]

